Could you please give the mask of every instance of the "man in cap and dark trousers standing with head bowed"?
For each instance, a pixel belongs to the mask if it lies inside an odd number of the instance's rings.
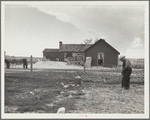
[[[130,75],[132,73],[132,65],[131,62],[125,58],[125,56],[120,57],[120,61],[123,62],[123,67],[122,67],[122,92],[123,90],[128,90],[129,89],[129,84],[130,84]]]

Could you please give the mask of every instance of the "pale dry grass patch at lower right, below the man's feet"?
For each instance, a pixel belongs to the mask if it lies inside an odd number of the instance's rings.
[[[104,85],[103,88],[93,86],[87,90],[84,102],[80,99],[77,101],[77,111],[78,113],[82,111],[82,113],[143,114],[144,100],[141,98],[144,97],[144,87],[141,87],[131,85],[130,90],[122,94],[119,85]]]

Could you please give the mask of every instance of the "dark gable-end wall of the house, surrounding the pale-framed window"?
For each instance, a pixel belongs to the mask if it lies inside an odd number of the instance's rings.
[[[92,66],[97,66],[98,53],[104,53],[104,67],[113,67],[118,64],[118,53],[104,41],[98,42],[85,52],[85,57],[92,57]]]

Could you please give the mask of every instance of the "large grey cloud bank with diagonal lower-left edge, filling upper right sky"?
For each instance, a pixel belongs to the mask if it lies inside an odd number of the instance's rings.
[[[92,37],[114,39],[116,33],[123,41],[133,41],[135,35],[144,34],[144,6],[142,5],[31,5],[40,11],[69,22]],[[90,29],[90,31],[89,31]],[[118,38],[119,42],[122,38]],[[119,40],[120,39],[120,40]],[[127,42],[127,44],[131,44]],[[129,45],[128,44],[128,45]]]

